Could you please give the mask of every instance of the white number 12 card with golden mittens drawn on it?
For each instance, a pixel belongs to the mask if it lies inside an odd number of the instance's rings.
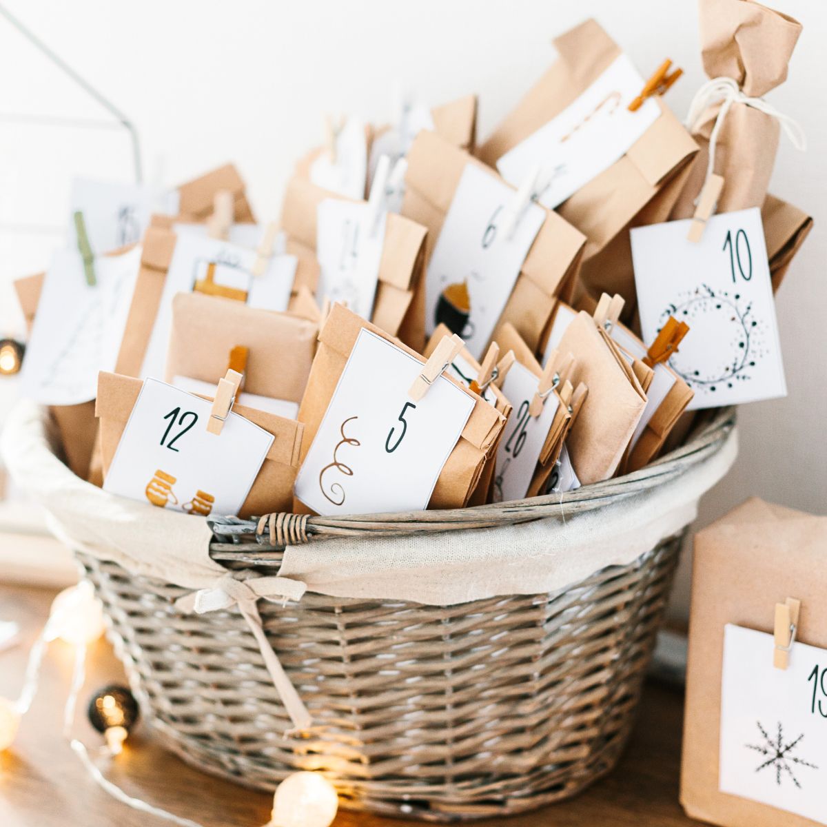
[[[220,434],[208,433],[212,407],[205,399],[147,379],[117,444],[104,490],[186,514],[237,514],[274,437],[232,412]]]

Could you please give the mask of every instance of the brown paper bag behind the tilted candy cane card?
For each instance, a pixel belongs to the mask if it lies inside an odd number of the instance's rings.
[[[480,147],[478,155],[486,164],[494,166],[502,155],[562,112],[621,54],[619,46],[594,20],[557,37],[554,45],[558,60]],[[628,227],[698,150],[666,104],[660,98],[656,100],[662,115],[646,134],[608,170],[557,208],[588,239],[584,264]],[[668,213],[667,203],[662,202],[660,208]],[[586,275],[599,275],[599,270],[587,270]]]

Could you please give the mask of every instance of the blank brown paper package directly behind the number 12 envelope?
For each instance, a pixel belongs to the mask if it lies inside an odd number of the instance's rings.
[[[233,347],[249,349],[244,390],[300,402],[316,352],[318,327],[307,319],[251,308],[220,296],[179,293],[172,300],[165,380],[217,383]]]

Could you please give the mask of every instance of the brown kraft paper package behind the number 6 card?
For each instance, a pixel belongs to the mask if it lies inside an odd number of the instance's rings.
[[[433,132],[421,131],[408,155],[402,213],[428,227],[427,258],[433,253],[442,224],[466,165],[476,165],[501,180],[495,170],[452,146]],[[513,189],[513,188],[512,188]],[[545,210],[545,220],[523,261],[519,276],[498,324],[510,322],[528,347],[536,350],[558,299],[571,299],[586,238],[557,213]],[[424,325],[425,279],[415,299],[418,321]],[[424,346],[424,327],[400,334],[411,347]]]

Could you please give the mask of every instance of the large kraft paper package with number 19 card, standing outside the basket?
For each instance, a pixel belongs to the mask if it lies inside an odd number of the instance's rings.
[[[721,681],[725,624],[772,634],[775,605],[787,598],[801,600],[796,641],[827,647],[827,518],[753,498],[694,543],[681,804],[691,818],[721,827],[811,827],[801,815],[719,791]],[[809,710],[811,691],[803,689],[795,702]]]

